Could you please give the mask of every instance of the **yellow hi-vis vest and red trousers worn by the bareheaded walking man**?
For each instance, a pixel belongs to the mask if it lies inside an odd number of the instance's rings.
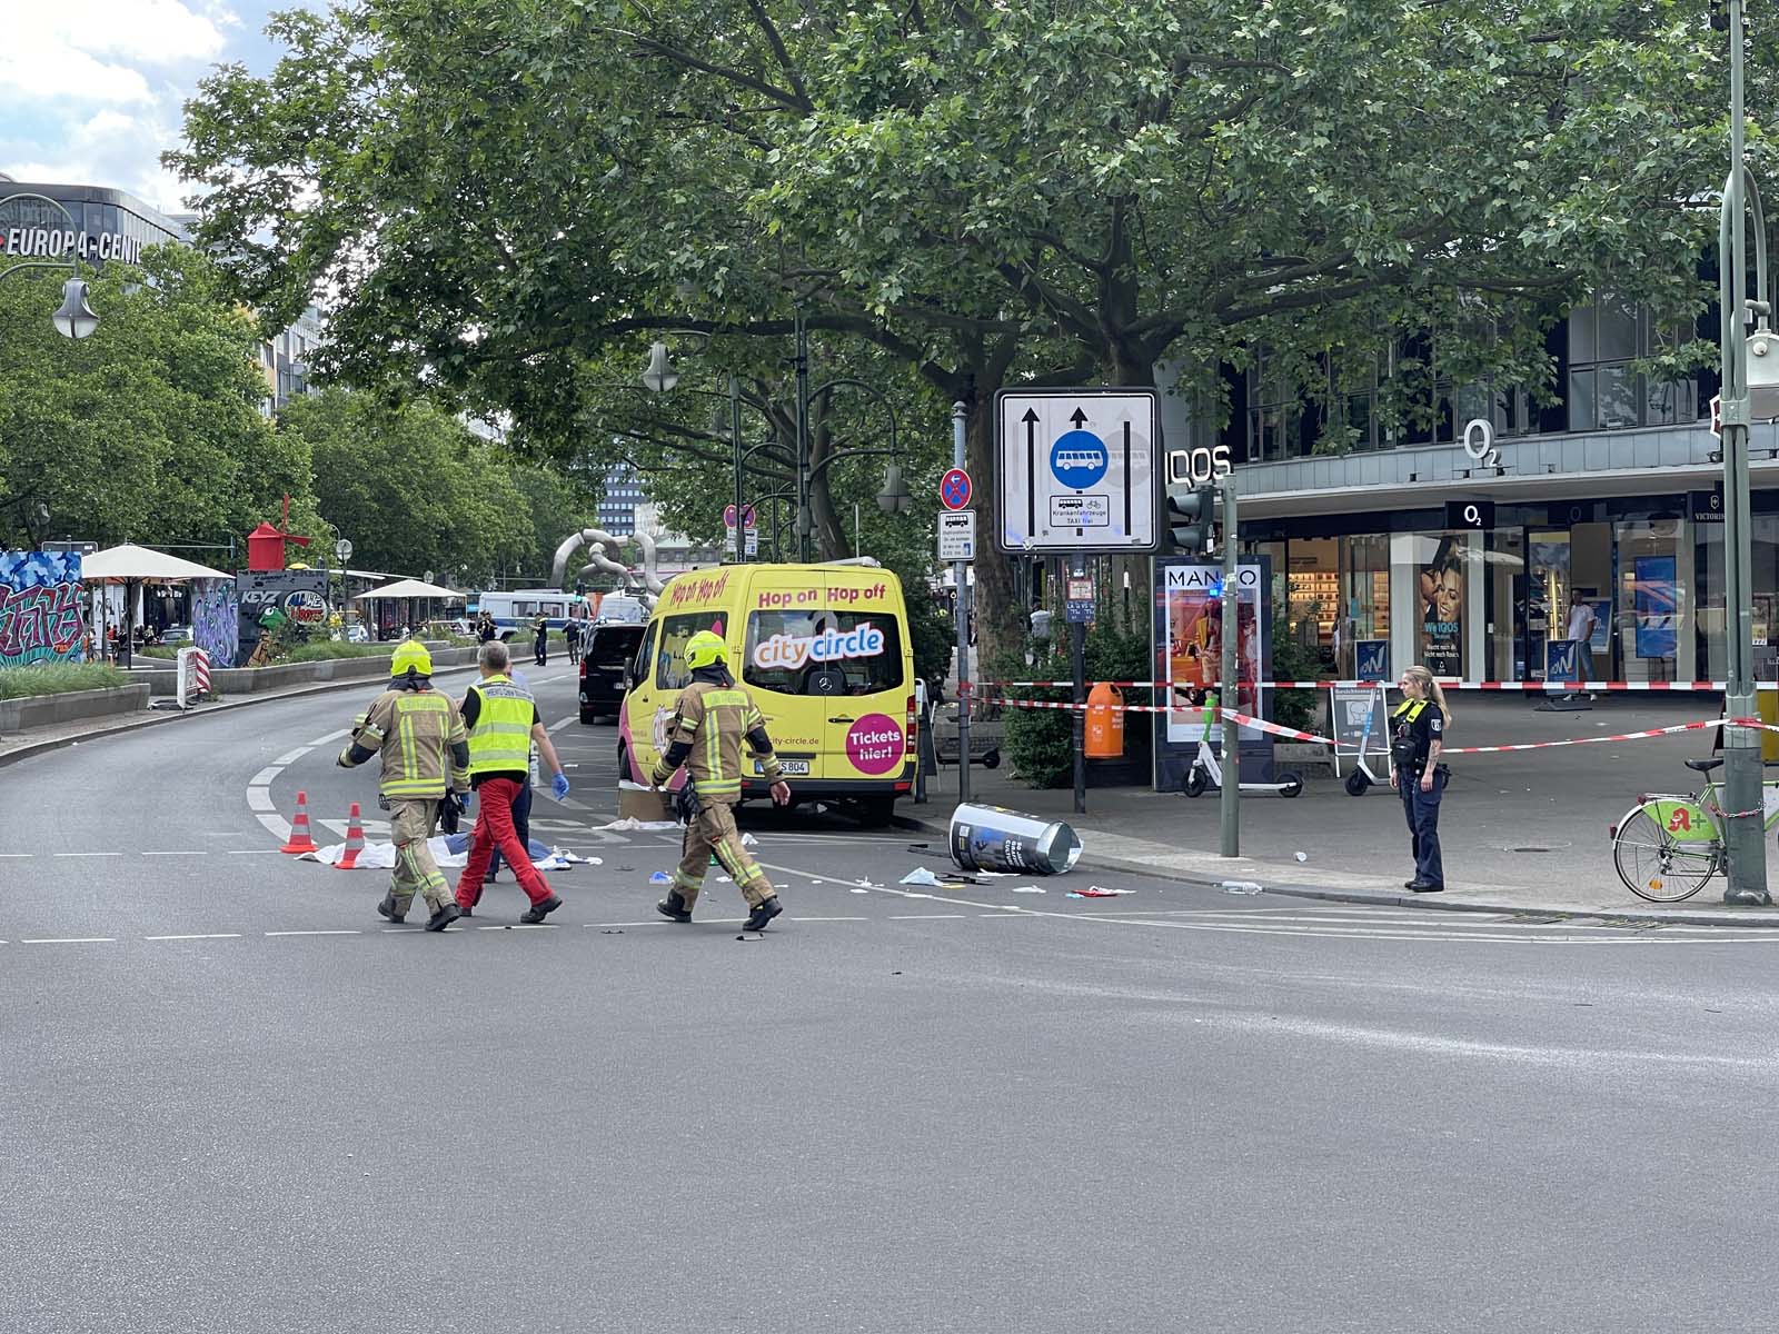
[[[487,676],[463,697],[463,717],[470,727],[470,786],[480,795],[475,832],[470,834],[470,861],[457,880],[457,907],[471,911],[482,896],[482,877],[498,845],[530,909],[519,918],[539,923],[562,907],[550,882],[532,866],[530,848],[519,840],[512,806],[530,788],[532,727],[537,701],[511,676]]]

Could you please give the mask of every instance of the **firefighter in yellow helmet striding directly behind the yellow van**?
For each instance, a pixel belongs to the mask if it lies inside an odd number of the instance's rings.
[[[690,921],[692,905],[704,888],[704,868],[715,854],[722,868],[735,877],[747,898],[745,930],[765,930],[785,909],[777,891],[753,854],[742,847],[735,829],[735,806],[742,800],[744,751],[760,756],[772,800],[790,804],[790,784],[772,754],[767,720],[754,706],[753,695],[735,683],[728,669],[728,646],[720,635],[701,630],[685,646],[685,665],[692,681],[680,692],[680,706],[669,733],[667,752],[649,775],[656,788],[667,786],[680,765],[685,765],[685,857],[672,873],[672,889],[658,902],[656,911],[674,921]]]

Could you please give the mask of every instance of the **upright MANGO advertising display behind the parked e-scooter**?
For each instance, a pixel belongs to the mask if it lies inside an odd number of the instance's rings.
[[[1236,683],[1224,703],[1242,713],[1270,719],[1268,692],[1256,683],[1272,672],[1272,587],[1267,557],[1236,567]],[[1222,678],[1222,566],[1194,560],[1155,562],[1155,667],[1167,681],[1167,711],[1155,715],[1155,788],[1179,792],[1204,736],[1204,699]],[[1156,697],[1156,703],[1163,703]],[[1272,779],[1272,736],[1242,727],[1242,779]],[[1211,731],[1213,749],[1222,747],[1222,727]]]

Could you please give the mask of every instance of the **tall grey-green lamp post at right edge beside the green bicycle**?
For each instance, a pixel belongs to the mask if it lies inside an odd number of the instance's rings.
[[[1749,391],[1747,315],[1752,309],[1758,324],[1756,338],[1763,342],[1772,315],[1767,288],[1767,221],[1761,213],[1761,196],[1743,158],[1742,116],[1742,0],[1729,0],[1729,178],[1724,181],[1724,206],[1717,222],[1719,251],[1719,304],[1724,374],[1724,601],[1729,615],[1724,631],[1729,639],[1729,681],[1726,713],[1731,719],[1751,719],[1754,703],[1754,626],[1752,626],[1752,569],[1754,555],[1749,530],[1749,425],[1754,418]],[[1749,301],[1745,212],[1754,208],[1754,256],[1758,295]],[[1763,390],[1761,416],[1779,414],[1779,406],[1768,402],[1772,390]],[[1761,733],[1751,727],[1724,729],[1724,800],[1727,806],[1724,845],[1729,852],[1729,884],[1726,904],[1770,904],[1767,893],[1767,847],[1761,840],[1765,825],[1761,809]]]

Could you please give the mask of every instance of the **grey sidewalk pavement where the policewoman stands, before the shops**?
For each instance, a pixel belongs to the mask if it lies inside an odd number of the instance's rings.
[[[1452,692],[1448,745],[1507,745],[1699,722],[1720,715],[1715,697],[1630,694],[1601,697],[1578,713],[1533,711],[1541,697]],[[1694,792],[1699,775],[1681,765],[1711,752],[1711,733],[1605,742],[1548,751],[1455,756],[1441,804],[1439,841],[1446,889],[1414,895],[1402,802],[1388,786],[1348,797],[1338,779],[1309,777],[1295,799],[1242,797],[1240,857],[1219,856],[1220,797],[1147,788],[1089,788],[1075,815],[1073,788],[1037,792],[1009,768],[970,770],[973,802],[1066,820],[1082,836],[1082,868],[1124,870],[1192,884],[1258,882],[1272,893],[1343,902],[1477,912],[1562,912],[1619,921],[1779,927],[1779,905],[1722,902],[1724,879],[1669,907],[1649,904],[1619,880],[1608,829],[1646,792]],[[1373,772],[1382,767],[1373,761]],[[898,813],[943,832],[957,800],[957,770],[929,775],[927,804]],[[1779,852],[1768,843],[1768,886]]]

